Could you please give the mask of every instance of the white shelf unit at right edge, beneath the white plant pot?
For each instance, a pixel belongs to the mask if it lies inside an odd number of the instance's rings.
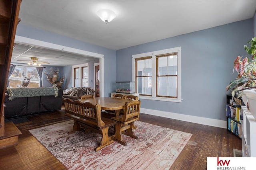
[[[242,157],[256,157],[256,121],[246,106],[241,107],[242,120]]]

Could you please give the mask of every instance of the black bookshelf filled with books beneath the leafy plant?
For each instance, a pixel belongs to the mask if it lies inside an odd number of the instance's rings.
[[[238,100],[234,101],[234,105],[231,107],[232,96],[227,95],[226,102],[226,117],[227,117],[227,130],[242,139],[242,124],[240,116],[241,113],[241,105],[243,104],[242,99],[238,99],[240,103],[238,104]],[[243,119],[243,118],[242,118]]]

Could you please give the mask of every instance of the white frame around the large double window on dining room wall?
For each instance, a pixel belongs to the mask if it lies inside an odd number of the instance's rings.
[[[177,52],[177,98],[165,98],[165,97],[156,97],[156,55],[162,55],[167,53],[175,53]],[[152,96],[140,96],[140,99],[146,100],[160,100],[160,101],[167,101],[167,102],[182,102],[181,98],[181,47],[175,47],[170,49],[164,49],[159,51],[152,51],[148,53],[136,54],[132,55],[132,81],[135,80],[136,76],[136,68],[135,68],[135,59],[151,56],[152,59]],[[138,89],[136,87],[136,89]],[[136,92],[137,93],[137,92]]]

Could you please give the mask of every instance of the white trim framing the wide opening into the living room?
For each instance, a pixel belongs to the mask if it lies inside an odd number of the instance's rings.
[[[58,50],[58,51],[64,51],[68,53],[73,53],[77,55],[85,55],[87,57],[93,57],[93,58],[98,58],[100,59],[100,96],[104,97],[104,55],[98,54],[98,53],[93,53],[90,51],[84,51],[80,49],[74,49],[71,47],[66,47],[58,44],[53,44],[53,43],[48,43],[45,41],[40,41],[36,39],[31,39],[27,37],[21,37],[16,35],[15,36],[15,43],[22,43],[22,44],[27,44],[27,45],[36,45],[37,47],[42,47],[46,49],[52,49],[52,50]]]

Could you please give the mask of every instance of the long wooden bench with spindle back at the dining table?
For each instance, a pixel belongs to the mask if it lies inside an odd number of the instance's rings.
[[[117,122],[101,116],[100,104],[93,105],[82,103],[79,100],[64,99],[64,105],[66,115],[74,119],[73,131],[68,134],[81,130],[81,126],[101,134],[100,145],[96,147],[95,151],[113,143],[113,140],[108,137],[108,129]]]

